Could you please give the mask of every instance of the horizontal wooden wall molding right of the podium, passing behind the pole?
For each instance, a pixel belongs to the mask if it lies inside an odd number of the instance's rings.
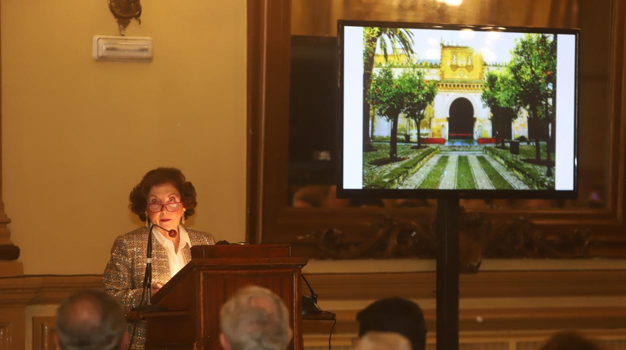
[[[305,274],[319,300],[434,299],[435,272]],[[461,298],[623,296],[625,270],[490,271],[461,275]]]

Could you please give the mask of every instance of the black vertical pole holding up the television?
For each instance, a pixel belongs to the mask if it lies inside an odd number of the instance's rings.
[[[437,200],[437,350],[459,348],[459,198]]]

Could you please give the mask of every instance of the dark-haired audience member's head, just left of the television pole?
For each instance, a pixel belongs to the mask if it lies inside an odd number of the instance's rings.
[[[356,316],[359,338],[367,332],[396,332],[409,339],[411,349],[426,348],[426,323],[422,309],[412,301],[391,297],[373,302]]]

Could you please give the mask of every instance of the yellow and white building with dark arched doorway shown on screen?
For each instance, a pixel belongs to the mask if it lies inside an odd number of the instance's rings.
[[[528,113],[521,111],[511,125],[497,128],[491,123],[491,113],[481,101],[485,75],[492,69],[503,69],[504,64],[486,63],[480,51],[469,46],[440,44],[441,59],[421,60],[407,58],[405,54],[390,54],[387,61],[382,54],[374,59],[374,73],[383,66],[390,66],[395,76],[416,63],[423,69],[426,79],[439,81],[438,94],[426,110],[426,118],[419,126],[422,137],[445,140],[476,140],[495,137],[496,130],[505,138],[528,137]],[[372,137],[387,137],[391,123],[378,118],[372,111]],[[418,128],[413,120],[400,116],[398,135],[409,135],[417,140]]]

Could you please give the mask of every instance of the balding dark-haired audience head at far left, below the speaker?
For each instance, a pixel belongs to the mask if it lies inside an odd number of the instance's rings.
[[[81,291],[56,310],[56,329],[63,350],[120,349],[126,318],[120,304],[105,292]]]

